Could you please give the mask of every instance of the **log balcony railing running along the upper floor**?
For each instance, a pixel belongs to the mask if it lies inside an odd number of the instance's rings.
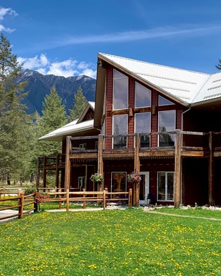
[[[185,150],[209,149],[209,133],[188,132],[181,133],[181,148]],[[71,137],[70,154],[78,152],[98,152],[99,143],[102,141],[103,152],[127,150],[132,151],[137,144],[140,150],[174,149],[177,131],[172,132],[147,132],[125,135],[99,135],[88,137]],[[221,149],[221,132],[213,135],[214,147]]]

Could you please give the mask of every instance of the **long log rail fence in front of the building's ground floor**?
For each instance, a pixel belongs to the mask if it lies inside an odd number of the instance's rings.
[[[48,193],[48,195],[54,195],[55,198],[39,197],[37,198],[37,203],[58,202],[59,209],[61,209],[61,202],[65,202],[67,211],[70,208],[71,201],[82,202],[83,208],[86,208],[86,202],[97,201],[97,204],[103,205],[104,210],[106,209],[107,203],[111,201],[128,201],[128,206],[132,206],[132,189],[130,189],[128,192],[117,193],[109,193],[107,190],[91,192],[87,192],[86,190],[83,190],[82,192],[70,192],[69,190],[66,190],[66,192],[61,192],[61,190],[59,190],[58,193]],[[110,196],[117,196],[117,198],[111,198]]]

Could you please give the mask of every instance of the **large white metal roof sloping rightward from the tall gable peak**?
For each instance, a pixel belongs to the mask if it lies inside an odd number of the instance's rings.
[[[221,73],[209,75],[103,53],[99,53],[99,58],[160,88],[183,103],[221,97]]]

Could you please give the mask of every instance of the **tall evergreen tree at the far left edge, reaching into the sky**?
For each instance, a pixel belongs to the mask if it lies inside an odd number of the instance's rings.
[[[25,151],[22,145],[26,143],[23,136],[26,123],[30,117],[26,115],[23,104],[27,93],[23,92],[26,82],[16,83],[22,72],[22,66],[17,56],[12,54],[10,41],[0,35],[0,177],[10,179],[17,172],[17,166],[22,166],[21,157]],[[23,137],[23,139],[21,138]],[[18,177],[18,175],[17,175]],[[10,183],[10,181],[8,181]]]

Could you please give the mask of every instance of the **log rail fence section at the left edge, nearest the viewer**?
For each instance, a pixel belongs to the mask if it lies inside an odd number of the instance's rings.
[[[5,204],[1,204],[1,202],[3,201],[16,201],[16,204],[14,205],[5,205]],[[25,206],[30,206],[33,205],[33,208],[30,208],[28,210],[23,210],[23,208]],[[23,192],[19,192],[19,195],[17,197],[8,197],[8,198],[4,198],[4,199],[0,199],[0,211],[3,210],[18,210],[17,213],[14,213],[12,215],[6,215],[6,216],[0,216],[0,220],[1,219],[9,219],[12,217],[18,217],[19,219],[21,219],[23,217],[23,215],[28,214],[32,211],[37,210],[37,204],[35,201],[35,193],[32,193],[30,195],[24,195]]]

